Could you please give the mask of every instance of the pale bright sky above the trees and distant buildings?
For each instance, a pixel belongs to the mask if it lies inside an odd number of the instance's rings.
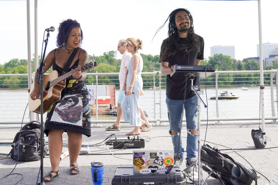
[[[34,2],[31,5],[31,55],[34,44]],[[12,58],[27,59],[27,2],[0,1],[0,64]],[[278,1],[262,0],[263,43],[278,43],[276,23]],[[39,0],[38,54],[41,55],[44,30],[50,32],[46,53],[56,47],[57,27],[64,19],[76,19],[84,34],[83,49],[90,55],[116,51],[120,39],[140,38],[141,53],[159,55],[160,46],[167,37],[167,25],[154,37],[156,30],[176,8],[187,8],[193,15],[196,34],[205,42],[204,56],[210,47],[234,45],[235,58],[242,60],[257,56],[259,44],[258,1],[204,1],[204,0]],[[121,58],[120,53],[116,58]]]

